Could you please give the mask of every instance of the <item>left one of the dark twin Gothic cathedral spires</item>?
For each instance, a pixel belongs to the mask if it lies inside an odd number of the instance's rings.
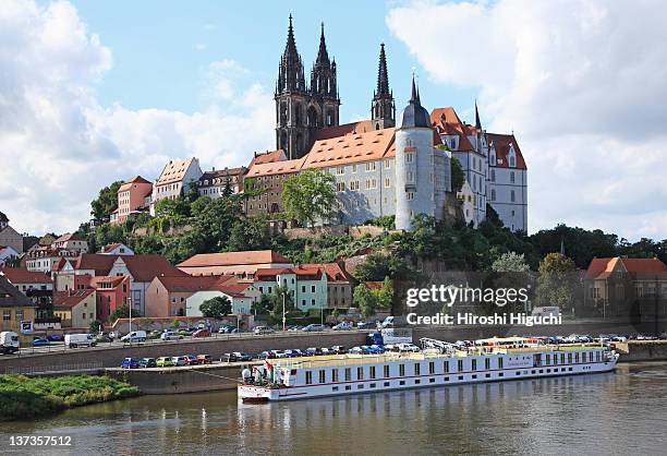
[[[276,148],[281,148],[289,159],[302,157],[310,146],[306,107],[310,100],[303,62],[296,50],[292,15],[284,52],[278,68],[276,83]]]

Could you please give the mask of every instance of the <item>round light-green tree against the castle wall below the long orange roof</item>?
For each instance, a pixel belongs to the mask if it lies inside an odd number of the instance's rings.
[[[316,170],[305,170],[286,179],[282,207],[287,216],[311,227],[318,219],[326,220],[336,203],[335,183],[332,175]]]

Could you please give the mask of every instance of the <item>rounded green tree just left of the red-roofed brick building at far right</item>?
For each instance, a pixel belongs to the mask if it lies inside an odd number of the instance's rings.
[[[539,263],[535,289],[537,302],[539,305],[557,305],[561,310],[571,310],[578,281],[574,262],[560,253],[549,253]]]

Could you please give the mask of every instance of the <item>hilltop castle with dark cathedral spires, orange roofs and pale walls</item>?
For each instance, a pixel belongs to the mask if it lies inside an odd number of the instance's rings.
[[[451,107],[429,113],[414,77],[397,122],[384,44],[369,118],[340,124],[337,71],[323,24],[306,84],[290,15],[275,91],[276,151],[255,154],[247,168],[234,168],[233,173],[204,173],[192,159],[170,163],[156,185],[181,191],[183,182],[174,180],[194,176],[199,193],[210,197],[222,195],[225,188],[229,191],[230,182],[235,191],[252,185],[262,192],[246,197],[246,212],[277,214],[282,182],[302,170],[318,169],[335,177],[338,196],[331,218],[323,223],[357,225],[396,215],[397,229],[410,230],[417,214],[446,216],[447,195],[452,195],[451,160],[457,158],[465,175],[463,187],[456,189],[465,221],[477,226],[489,205],[506,227],[527,231],[527,167],[513,133],[484,130],[476,104],[474,125],[461,121]],[[170,197],[165,189],[154,189],[154,204],[161,194]]]

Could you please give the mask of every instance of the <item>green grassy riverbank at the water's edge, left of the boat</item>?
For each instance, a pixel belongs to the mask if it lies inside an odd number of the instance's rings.
[[[135,386],[104,375],[0,375],[0,421],[44,417],[138,394]]]

